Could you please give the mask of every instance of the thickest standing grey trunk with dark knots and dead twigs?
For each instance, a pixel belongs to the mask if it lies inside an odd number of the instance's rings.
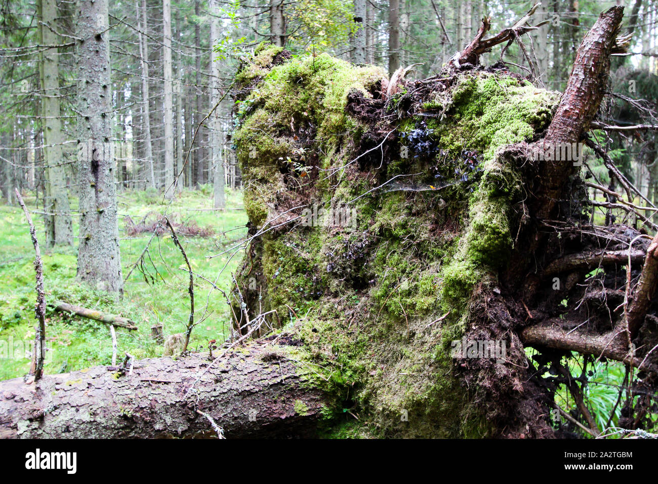
[[[78,177],[80,245],[78,277],[97,288],[122,292],[116,219],[107,0],[79,0],[76,15],[78,68]]]

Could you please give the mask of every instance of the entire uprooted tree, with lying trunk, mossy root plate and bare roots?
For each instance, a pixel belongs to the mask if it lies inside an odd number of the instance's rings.
[[[282,416],[295,435],[320,419],[328,435],[562,437],[549,415],[564,383],[580,412],[570,421],[599,435],[567,369],[576,353],[580,385],[601,358],[626,365],[618,425],[649,430],[656,242],[632,224],[593,225],[574,160],[535,154],[584,140],[627,42],[622,11],[586,34],[561,95],[479,65],[520,41],[527,18],[488,40],[484,20],[455,62],[414,82],[261,45],[236,80],[249,236],[233,313],[238,338],[274,335],[210,369],[191,356],[116,377],[99,367],[68,387],[59,375],[1,383],[0,432],[64,435],[83,405],[103,409],[82,415],[107,421],[104,437],[259,435]],[[483,342],[504,351],[483,355]],[[249,405],[268,417],[245,419]]]

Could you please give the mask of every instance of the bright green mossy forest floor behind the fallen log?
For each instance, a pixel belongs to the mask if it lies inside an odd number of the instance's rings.
[[[134,233],[134,227],[140,223],[146,227],[156,223],[166,209],[166,203],[162,202],[162,196],[155,192],[119,192],[118,219],[124,278],[138,261],[153,232]],[[26,203],[38,228],[47,303],[63,300],[132,319],[138,331],[116,329],[118,360],[122,360],[124,352],[136,358],[161,356],[163,346],[151,339],[153,325],[162,324],[164,336],[185,331],[190,315],[187,267],[166,227],[161,234],[153,237],[143,264],[134,269],[125,282],[122,300],[113,300],[106,293],[76,281],[76,248],[45,248],[43,223],[38,215],[43,209],[34,205],[34,198],[27,198]],[[71,198],[70,203],[75,213],[78,200]],[[192,270],[215,281],[234,250],[213,259],[207,259],[207,256],[219,254],[238,244],[237,240],[247,232],[247,215],[240,191],[226,190],[226,211],[213,211],[212,207],[211,190],[184,190],[166,209],[166,214],[179,232],[178,237],[188,254]],[[76,247],[77,218],[73,217]],[[34,248],[20,207],[0,205],[0,223],[3,227],[0,238],[0,380],[4,380],[22,376],[30,369],[36,290]],[[185,235],[188,229],[202,234]],[[216,281],[219,288],[227,292],[230,290],[231,273],[240,260],[241,250],[232,257]],[[209,340],[221,342],[228,335],[230,309],[220,292],[212,290],[208,282],[195,277],[194,283],[195,321],[204,314],[207,316],[195,327],[191,336],[190,349],[200,351],[207,348]],[[46,373],[62,373],[111,363],[112,340],[107,325],[63,315],[53,308],[47,308],[46,317],[49,348]]]

